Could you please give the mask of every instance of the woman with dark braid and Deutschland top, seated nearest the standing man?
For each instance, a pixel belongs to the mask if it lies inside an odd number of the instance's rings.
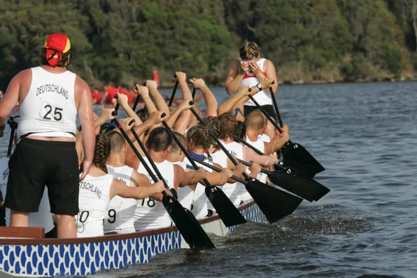
[[[96,136],[94,158],[90,172],[79,183],[79,213],[76,215],[77,237],[103,236],[103,220],[110,200],[116,195],[144,199],[161,193],[162,181],[149,187],[130,187],[108,174],[106,162],[110,156],[111,141],[104,134]]]

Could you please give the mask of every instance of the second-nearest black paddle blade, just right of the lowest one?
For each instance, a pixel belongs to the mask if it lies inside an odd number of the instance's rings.
[[[226,227],[247,222],[238,208],[217,186],[206,186],[206,196]]]

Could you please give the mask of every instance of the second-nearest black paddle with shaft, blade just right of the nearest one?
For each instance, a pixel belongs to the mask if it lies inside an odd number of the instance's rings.
[[[191,102],[191,101],[190,101]],[[195,168],[195,170],[198,170],[199,167],[195,162],[193,161],[193,158],[191,158],[190,154],[188,154],[187,149],[181,144],[181,142],[178,140],[178,138],[174,135],[174,132],[170,129],[170,126],[163,121],[162,122],[165,128],[170,131],[172,138],[177,142],[177,145],[179,145],[179,148],[181,151],[186,155],[188,158],[188,161],[190,161],[191,165]],[[222,219],[224,225],[226,227],[231,227],[237,224],[242,224],[247,222],[243,215],[240,214],[236,206],[230,201],[230,199],[224,194],[223,190],[218,188],[218,186],[213,186],[207,179],[203,179],[206,189],[204,190],[207,196],[207,199],[211,202],[213,205],[213,208],[220,216],[220,219]]]

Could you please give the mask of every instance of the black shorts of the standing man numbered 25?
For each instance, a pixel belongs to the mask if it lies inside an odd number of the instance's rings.
[[[4,205],[13,211],[38,211],[44,186],[51,213],[79,213],[79,167],[75,142],[23,138],[8,163],[9,177]]]

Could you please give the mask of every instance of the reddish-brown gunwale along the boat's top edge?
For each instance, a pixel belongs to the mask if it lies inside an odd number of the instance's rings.
[[[238,211],[243,211],[245,208],[253,206],[255,202],[245,202],[238,206]],[[206,224],[220,220],[218,214],[212,215],[208,218],[198,220],[199,224]],[[165,234],[172,231],[178,231],[177,226],[165,227],[161,229],[153,229],[148,231],[136,231],[131,234],[115,234],[107,236],[96,236],[91,238],[0,238],[0,245],[64,245],[64,244],[85,244],[85,243],[102,243],[115,240],[128,240],[131,238],[142,238],[145,236],[154,236],[157,234]]]

